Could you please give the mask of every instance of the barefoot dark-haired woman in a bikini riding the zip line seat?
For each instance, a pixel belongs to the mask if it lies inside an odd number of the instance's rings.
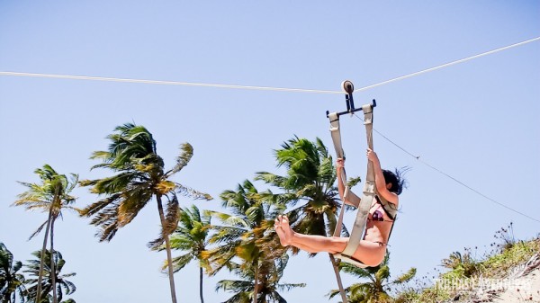
[[[399,206],[398,195],[401,194],[404,180],[398,170],[395,173],[383,170],[379,157],[370,148],[367,148],[367,159],[374,165],[375,187],[378,194],[375,195],[375,199],[371,203],[364,236],[356,247],[356,252],[351,256],[356,261],[364,263],[365,266],[377,266],[383,262],[386,254],[386,245]],[[338,175],[341,174],[344,165],[345,159],[338,158]],[[344,203],[358,207],[360,199],[354,195],[347,197],[345,194],[346,184],[344,184],[342,178],[338,178],[338,192]],[[356,201],[351,201],[350,197],[356,197]],[[303,235],[294,232],[289,225],[289,219],[283,215],[275,218],[275,231],[279,236],[281,245],[292,245],[311,254],[321,252],[339,254],[343,252],[349,241],[348,237]]]

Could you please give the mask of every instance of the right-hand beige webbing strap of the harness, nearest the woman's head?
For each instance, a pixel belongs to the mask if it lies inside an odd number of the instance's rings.
[[[364,111],[364,124],[367,145],[369,148],[373,149],[373,108],[371,104],[363,105],[362,111]],[[375,174],[374,165],[371,161],[367,161],[367,175],[364,183],[363,193],[364,195],[360,200],[360,205],[357,209],[355,224],[353,226],[353,229],[351,230],[349,241],[347,243],[347,246],[345,247],[345,250],[343,250],[343,252],[341,253],[345,256],[352,256],[353,254],[355,254],[356,248],[358,248],[358,245],[360,244],[360,240],[364,238],[367,216],[369,214],[369,209],[371,208],[371,205],[375,199]]]

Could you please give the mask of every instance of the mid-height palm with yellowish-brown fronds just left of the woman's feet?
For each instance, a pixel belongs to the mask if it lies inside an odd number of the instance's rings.
[[[222,192],[222,206],[232,214],[209,211],[223,225],[213,227],[216,233],[209,241],[218,246],[202,254],[214,266],[209,274],[219,272],[223,267],[235,268],[238,264],[233,262],[233,258],[239,257],[243,261],[238,265],[240,270],[253,271],[254,285],[257,285],[253,302],[257,302],[261,288],[259,279],[265,274],[263,263],[285,253],[271,230],[274,218],[283,211],[283,207],[264,201],[263,196],[248,180],[238,184],[236,191]],[[274,236],[269,236],[271,234]]]

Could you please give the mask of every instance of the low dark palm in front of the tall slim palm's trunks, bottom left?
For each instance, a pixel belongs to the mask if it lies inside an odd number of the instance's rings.
[[[27,272],[30,274],[31,277],[39,277],[40,272],[40,255],[45,255],[45,259],[49,261],[50,264],[54,264],[54,266],[48,266],[49,263],[46,263],[46,266],[43,268],[43,271],[47,273],[45,275],[45,279],[40,281],[39,279],[28,279],[26,282],[27,284],[31,285],[28,289],[28,299],[31,302],[46,302],[49,303],[51,300],[55,300],[52,296],[50,296],[50,291],[55,290],[54,292],[58,295],[58,301],[60,303],[67,303],[67,302],[75,302],[73,299],[68,299],[67,301],[62,301],[64,297],[64,292],[66,295],[71,295],[75,292],[76,287],[75,284],[73,284],[71,281],[67,281],[67,278],[73,277],[76,275],[75,272],[70,273],[64,273],[60,274],[62,272],[62,269],[64,269],[64,265],[66,264],[66,260],[62,257],[62,254],[58,251],[54,251],[52,254],[49,250],[45,251],[44,254],[40,251],[36,251],[32,253],[33,256],[35,256],[36,260],[28,260],[27,264],[24,264],[26,267],[26,270],[24,272]],[[54,270],[52,270],[54,268]],[[42,290],[42,298],[38,300],[36,297],[39,294],[38,288]]]

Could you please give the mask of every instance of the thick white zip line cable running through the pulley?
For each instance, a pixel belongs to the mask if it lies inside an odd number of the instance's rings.
[[[410,78],[412,76],[419,76],[440,68],[450,67],[465,61],[472,60],[474,58],[481,58],[483,56],[491,55],[493,53],[516,48],[518,46],[540,40],[540,37],[536,37],[530,40],[525,40],[518,42],[506,47],[499,49],[493,49],[490,51],[483,52],[478,55],[474,55],[467,58],[462,58],[455,60],[437,67],[431,67],[428,69],[421,70],[416,73],[412,73],[405,76],[398,76],[396,78],[386,80],[374,85],[368,85],[362,88],[358,88],[355,92],[361,92],[374,88],[376,86],[386,85],[395,81],[403,80]],[[114,77],[103,77],[103,76],[73,76],[73,75],[56,75],[56,74],[38,74],[38,73],[23,73],[23,72],[9,72],[9,71],[0,71],[0,76],[31,76],[31,77],[40,77],[40,78],[60,78],[60,79],[74,79],[74,80],[93,80],[93,81],[108,81],[108,82],[123,82],[123,83],[137,83],[137,84],[149,84],[149,85],[184,85],[184,86],[200,86],[200,87],[216,87],[216,88],[230,88],[230,89],[245,89],[245,90],[259,90],[259,91],[277,91],[277,92],[292,92],[292,93],[313,93],[313,94],[343,94],[339,91],[329,91],[329,90],[317,90],[317,89],[304,89],[304,88],[286,88],[286,87],[271,87],[271,86],[254,86],[254,85],[220,85],[220,84],[209,84],[209,83],[194,83],[194,82],[180,82],[180,81],[163,81],[163,80],[145,80],[145,79],[129,79],[129,78],[114,78]]]

